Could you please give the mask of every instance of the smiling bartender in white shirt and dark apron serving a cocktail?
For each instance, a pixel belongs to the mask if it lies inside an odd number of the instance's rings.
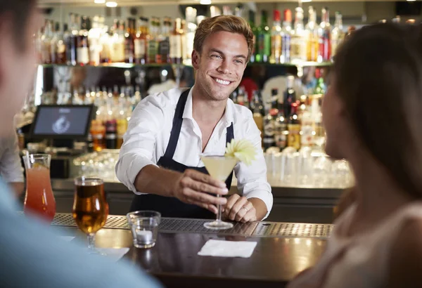
[[[248,108],[229,95],[241,82],[252,53],[253,33],[243,18],[221,15],[200,22],[193,41],[196,81],[191,89],[152,94],[129,121],[116,165],[117,178],[136,196],[131,211],[154,210],[163,217],[215,218],[217,204],[233,221],[260,221],[273,197],[260,130]],[[227,195],[232,175],[222,183],[207,175],[202,153],[224,155],[231,139],[250,140],[257,157],[238,163],[241,195]]]

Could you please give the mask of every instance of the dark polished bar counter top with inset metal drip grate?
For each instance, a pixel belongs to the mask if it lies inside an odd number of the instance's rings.
[[[316,263],[332,229],[326,224],[255,222],[212,232],[203,228],[203,222],[162,218],[155,247],[136,249],[126,218],[109,216],[96,235],[96,246],[130,247],[124,258],[157,277],[165,287],[280,288]],[[85,239],[70,214],[57,214],[52,225],[60,229],[60,235]],[[209,239],[255,241],[257,246],[250,258],[198,256]]]

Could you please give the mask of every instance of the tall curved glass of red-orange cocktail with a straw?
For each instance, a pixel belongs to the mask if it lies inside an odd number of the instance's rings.
[[[26,172],[26,193],[23,211],[36,214],[51,223],[56,214],[56,200],[50,181],[51,156],[30,154],[23,157]]]

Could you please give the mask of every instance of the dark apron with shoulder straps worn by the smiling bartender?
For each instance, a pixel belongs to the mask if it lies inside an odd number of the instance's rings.
[[[170,133],[170,140],[165,150],[165,154],[158,160],[158,166],[173,171],[179,171],[183,173],[186,169],[194,169],[202,173],[208,174],[205,167],[189,167],[173,160],[174,151],[177,147],[177,141],[179,140],[179,134],[181,129],[181,123],[183,122],[183,112],[188,98],[189,90],[181,93],[179,101],[177,102],[176,112],[174,113],[172,132]],[[226,143],[229,143],[234,138],[233,123],[227,127]],[[226,180],[227,189],[230,190],[231,179],[233,178],[233,172]],[[135,195],[132,200],[130,211],[138,210],[153,210],[161,213],[162,217],[174,217],[174,218],[203,218],[212,219],[215,218],[215,214],[211,211],[198,207],[193,204],[186,204],[181,202],[175,197],[164,197],[154,194],[146,195]]]

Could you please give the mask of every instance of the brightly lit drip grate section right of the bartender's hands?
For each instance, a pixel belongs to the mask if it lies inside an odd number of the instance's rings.
[[[252,236],[328,238],[331,230],[330,224],[260,222]]]

